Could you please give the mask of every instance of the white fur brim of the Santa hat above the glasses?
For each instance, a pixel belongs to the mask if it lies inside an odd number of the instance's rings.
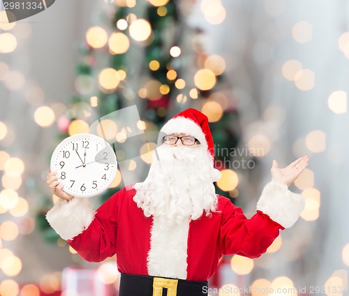
[[[168,135],[172,133],[192,135],[200,141],[200,144],[203,145],[206,150],[208,149],[205,134],[200,126],[186,117],[174,117],[170,119],[163,128],[161,128],[161,132]]]

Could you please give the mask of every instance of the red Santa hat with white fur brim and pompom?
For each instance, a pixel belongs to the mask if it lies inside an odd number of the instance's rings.
[[[214,164],[214,140],[209,130],[209,119],[200,111],[189,108],[175,115],[161,128],[161,133],[184,133],[200,141],[212,158]],[[214,181],[221,178],[221,172],[214,169]]]

